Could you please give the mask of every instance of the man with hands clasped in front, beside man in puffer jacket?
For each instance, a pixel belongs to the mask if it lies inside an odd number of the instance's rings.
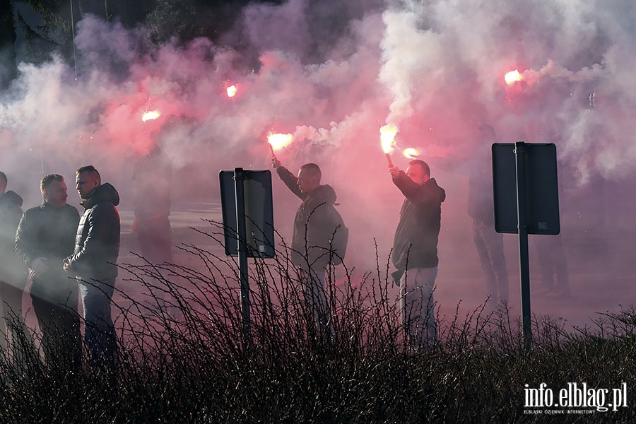
[[[28,209],[18,225],[16,252],[30,270],[31,300],[47,363],[78,370],[78,288],[75,279],[64,272],[64,259],[73,252],[79,213],[66,204],[66,183],[61,175],[42,178],[40,192],[42,204]]]

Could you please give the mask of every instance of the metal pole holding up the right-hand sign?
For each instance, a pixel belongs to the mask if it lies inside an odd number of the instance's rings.
[[[530,266],[528,255],[528,213],[526,199],[525,143],[514,143],[514,159],[517,168],[517,224],[519,225],[519,273],[521,277],[522,323],[524,349],[532,346],[532,322],[530,315]]]

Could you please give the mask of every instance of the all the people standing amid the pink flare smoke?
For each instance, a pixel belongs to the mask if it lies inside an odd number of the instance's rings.
[[[497,141],[492,126],[478,128],[483,155],[471,160],[428,158],[440,169],[469,175],[468,214],[473,238],[485,275],[488,305],[506,308],[508,273],[502,235],[494,228],[492,175],[488,151]],[[341,264],[346,254],[348,228],[336,210],[336,192],[321,184],[319,165],[305,163],[298,176],[273,155],[272,166],[283,183],[302,203],[293,223],[291,261],[298,276],[307,310],[319,336],[334,334],[325,285],[329,266]],[[399,286],[399,311],[407,340],[417,348],[438,340],[433,293],[437,278],[437,244],[446,192],[431,177],[429,163],[414,159],[406,171],[389,163],[392,182],[404,195],[395,230],[392,262]],[[133,232],[141,254],[153,264],[172,263],[170,187],[172,166],[153,144],[136,162],[133,172],[135,212]],[[81,301],[84,342],[92,367],[117,367],[117,340],[111,303],[118,276],[120,223],[119,194],[92,165],[76,171],[76,190],[83,213],[66,203],[64,177],[45,175],[40,182],[42,204],[22,211],[22,198],[6,191],[7,176],[0,172],[0,330],[1,358],[20,364],[25,349],[35,346],[22,312],[22,293],[28,287],[40,328],[45,361],[77,371],[82,363]],[[549,237],[545,237],[546,239]],[[568,296],[567,267],[559,237],[539,241],[544,291]],[[553,278],[556,275],[556,286]],[[327,280],[327,281],[326,281]],[[162,307],[162,295],[157,295]],[[9,343],[13,341],[13,343]],[[21,341],[16,343],[16,341]],[[25,343],[23,343],[25,341]]]

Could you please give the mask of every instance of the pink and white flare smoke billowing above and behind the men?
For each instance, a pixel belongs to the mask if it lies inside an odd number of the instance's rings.
[[[352,257],[372,253],[372,237],[388,254],[398,220],[402,198],[379,143],[385,124],[399,126],[397,151],[417,149],[424,160],[480,154],[489,146],[476,146],[476,128],[491,124],[499,141],[555,143],[562,187],[573,201],[588,199],[599,181],[603,199],[617,187],[631,189],[632,0],[312,5],[245,8],[241,33],[228,39],[245,40],[245,52],[259,57],[253,68],[237,65],[249,63],[242,53],[210,40],[151,47],[141,28],[82,20],[77,80],[73,64],[53,55],[40,66],[21,64],[1,98],[1,168],[23,182],[32,204],[42,172],[70,178],[87,163],[125,192],[135,156],[153,139],[175,163],[183,182],[178,196],[216,199],[218,170],[265,169],[267,134],[293,134],[276,155],[293,171],[305,162],[321,165],[351,223]],[[329,31],[336,18],[349,19],[337,36]],[[514,70],[522,79],[507,84]],[[230,86],[237,88],[231,96]],[[160,116],[143,122],[151,110]],[[402,168],[408,161],[393,160]],[[440,243],[457,239],[472,252],[466,179],[435,166],[432,172],[448,193]],[[290,227],[295,199],[276,181],[274,191],[277,223]],[[593,203],[577,204],[570,216],[591,223],[597,211],[583,208]],[[131,204],[122,196],[123,208]],[[618,208],[613,213],[609,220],[625,223]]]

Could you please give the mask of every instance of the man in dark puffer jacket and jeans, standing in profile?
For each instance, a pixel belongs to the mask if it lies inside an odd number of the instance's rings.
[[[77,276],[84,310],[84,339],[93,366],[114,367],[117,340],[110,304],[119,257],[119,194],[93,165],[77,170],[76,189],[84,199],[75,250],[64,269]]]

